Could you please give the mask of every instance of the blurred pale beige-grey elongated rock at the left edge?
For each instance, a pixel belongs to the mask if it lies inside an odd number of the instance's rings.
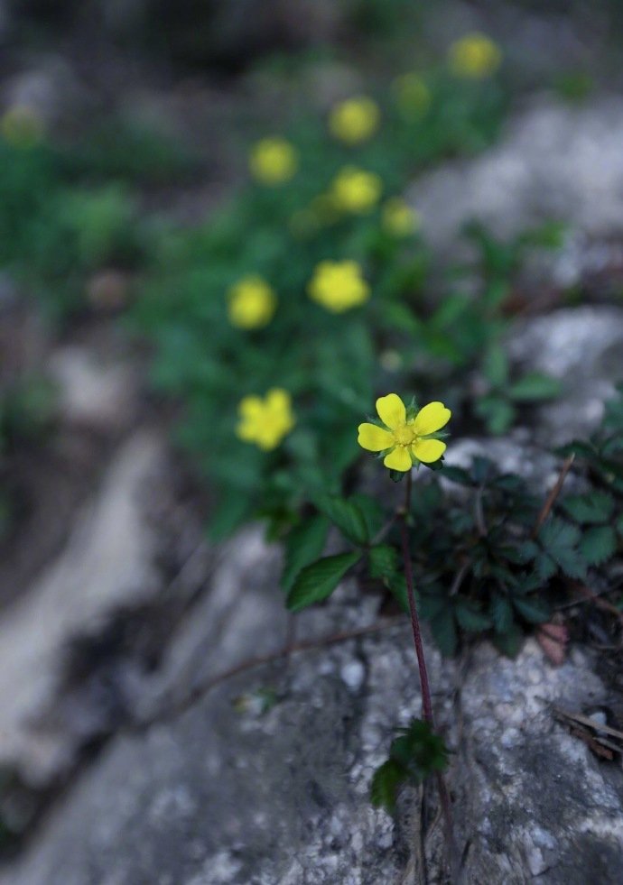
[[[70,641],[98,634],[118,606],[140,604],[159,586],[142,496],[163,457],[152,434],[129,438],[59,558],[0,620],[0,764],[27,783],[58,777],[82,739],[69,723],[42,727]]]

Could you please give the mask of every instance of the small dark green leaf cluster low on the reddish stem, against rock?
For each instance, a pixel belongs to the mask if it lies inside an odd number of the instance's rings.
[[[432,774],[448,767],[448,751],[431,724],[412,719],[398,730],[392,741],[389,759],[377,768],[370,786],[372,805],[395,811],[398,790],[405,784],[417,786]]]

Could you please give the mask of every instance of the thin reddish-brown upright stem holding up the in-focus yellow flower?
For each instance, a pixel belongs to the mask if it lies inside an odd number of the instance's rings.
[[[411,551],[409,549],[409,529],[407,520],[411,510],[411,492],[413,486],[413,476],[411,471],[406,475],[406,490],[404,493],[404,510],[400,512],[400,534],[403,542],[403,559],[404,559],[404,579],[406,581],[407,598],[409,600],[409,613],[411,616],[411,629],[414,634],[415,655],[417,657],[417,666],[420,671],[420,686],[422,688],[422,715],[423,719],[431,725],[434,730],[434,719],[432,716],[432,699],[431,684],[428,680],[428,670],[426,669],[426,659],[424,657],[424,648],[422,642],[422,631],[420,629],[420,619],[415,604],[414,591],[414,572],[411,564]],[[452,802],[450,791],[443,778],[442,772],[438,771],[436,775],[437,789],[442,806],[443,825],[446,833],[446,842],[450,854],[452,879],[455,880],[458,874],[459,853],[456,842],[454,841],[454,827],[452,825]]]

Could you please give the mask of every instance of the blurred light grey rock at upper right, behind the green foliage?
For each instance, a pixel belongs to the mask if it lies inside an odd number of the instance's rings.
[[[560,219],[592,238],[614,237],[623,231],[622,141],[620,97],[580,107],[541,97],[495,147],[424,176],[410,197],[440,252],[470,218],[500,236]]]

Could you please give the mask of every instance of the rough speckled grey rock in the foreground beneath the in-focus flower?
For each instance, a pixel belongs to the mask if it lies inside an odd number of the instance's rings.
[[[271,561],[266,551],[267,567]],[[260,620],[278,602],[274,585],[247,585],[244,593]],[[343,587],[321,614],[325,630],[352,622],[354,601],[353,589]],[[358,623],[373,615],[362,606]],[[314,618],[318,628],[318,613]],[[232,635],[225,632],[224,641]],[[255,651],[239,635],[238,653]],[[438,720],[456,752],[450,779],[457,834],[461,846],[470,844],[464,880],[618,881],[623,776],[557,724],[551,709],[606,701],[590,657],[574,650],[553,668],[527,641],[515,661],[484,645],[460,668],[428,651]],[[211,657],[218,655],[219,642],[211,648]],[[276,703],[263,713],[254,696],[270,688]],[[1,881],[408,881],[417,804],[404,797],[402,825],[394,825],[370,807],[367,793],[393,728],[419,707],[407,624],[301,652],[287,671],[249,668],[184,714],[117,737],[51,816],[33,852]],[[431,882],[446,880],[439,830],[427,844]]]

